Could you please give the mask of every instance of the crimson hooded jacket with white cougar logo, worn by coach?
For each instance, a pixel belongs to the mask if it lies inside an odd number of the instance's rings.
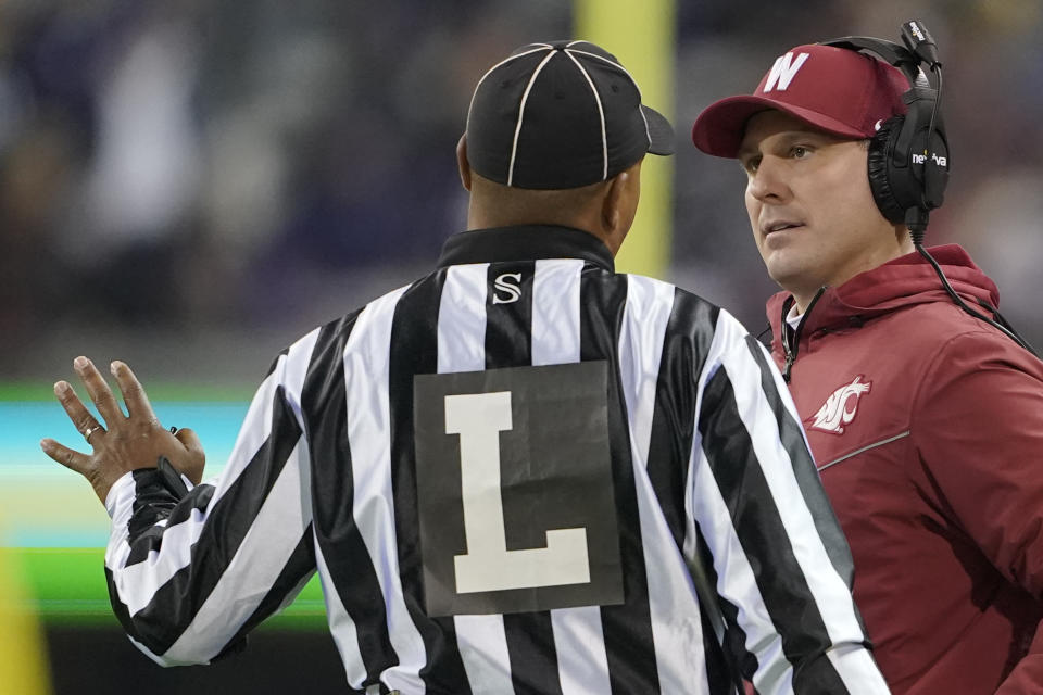
[[[963,249],[931,252],[968,304],[996,306]],[[791,304],[768,302],[783,369]],[[958,308],[917,253],[826,289],[787,331],[894,694],[1043,693],[1043,363]]]

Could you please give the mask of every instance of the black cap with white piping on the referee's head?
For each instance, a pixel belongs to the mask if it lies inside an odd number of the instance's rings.
[[[646,152],[674,153],[669,122],[589,41],[529,43],[493,65],[475,88],[466,137],[472,169],[529,189],[596,184]]]

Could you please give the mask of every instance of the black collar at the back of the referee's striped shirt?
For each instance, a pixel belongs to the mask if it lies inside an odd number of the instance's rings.
[[[514,225],[461,231],[445,240],[438,267],[540,258],[581,258],[615,271],[612,252],[598,237],[580,229],[554,225]]]

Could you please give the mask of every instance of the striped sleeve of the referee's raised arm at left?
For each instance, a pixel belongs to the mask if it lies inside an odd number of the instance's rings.
[[[189,490],[161,459],[110,491],[110,599],[131,642],[162,666],[234,648],[314,573],[298,405],[309,351],[304,339],[276,361],[216,480]]]

